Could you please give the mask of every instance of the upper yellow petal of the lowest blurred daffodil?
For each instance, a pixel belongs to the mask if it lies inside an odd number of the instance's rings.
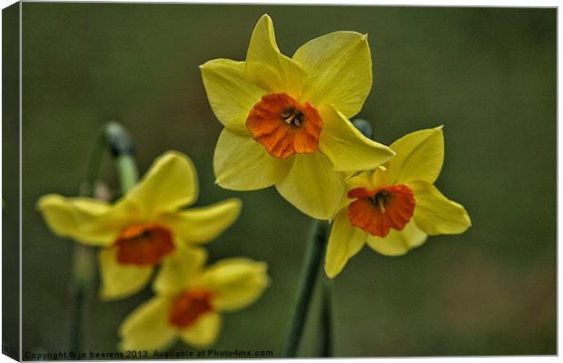
[[[153,290],[160,294],[173,295],[185,289],[202,270],[207,260],[203,249],[178,248],[163,260]]]

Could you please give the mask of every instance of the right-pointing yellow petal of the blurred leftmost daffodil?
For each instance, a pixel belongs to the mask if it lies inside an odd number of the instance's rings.
[[[159,216],[158,221],[184,242],[209,242],[231,226],[238,218],[241,207],[242,202],[233,198],[207,207],[164,214]]]

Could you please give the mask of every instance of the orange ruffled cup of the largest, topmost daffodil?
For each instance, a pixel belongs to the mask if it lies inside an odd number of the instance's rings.
[[[322,119],[311,103],[302,105],[287,93],[272,93],[254,104],[246,128],[272,156],[285,159],[317,151]]]

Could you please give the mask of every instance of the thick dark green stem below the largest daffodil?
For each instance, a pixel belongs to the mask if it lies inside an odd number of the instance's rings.
[[[305,319],[311,306],[312,291],[315,287],[319,270],[321,270],[322,251],[326,245],[327,238],[326,230],[327,223],[324,221],[315,220],[311,224],[297,301],[293,309],[290,335],[285,351],[286,358],[297,357],[297,349],[301,341]]]

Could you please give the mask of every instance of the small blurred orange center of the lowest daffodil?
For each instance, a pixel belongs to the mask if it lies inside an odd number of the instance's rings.
[[[180,329],[188,328],[203,314],[213,311],[211,299],[211,291],[183,291],[173,301],[168,322]]]

